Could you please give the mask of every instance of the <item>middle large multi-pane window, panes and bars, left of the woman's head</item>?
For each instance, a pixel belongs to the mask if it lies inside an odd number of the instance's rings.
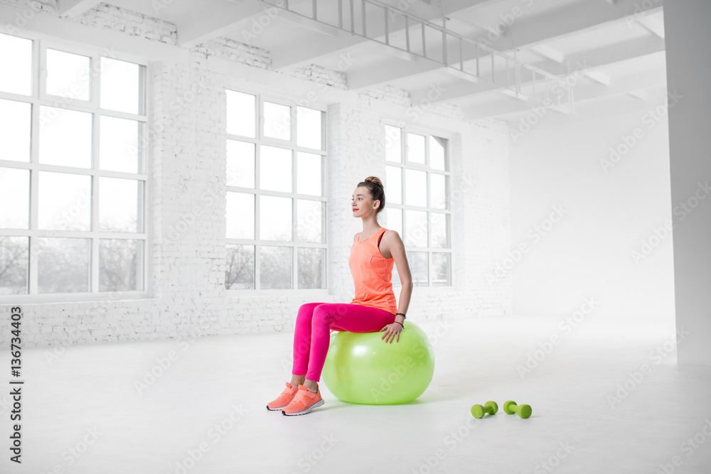
[[[227,90],[225,288],[326,288],[326,114]]]

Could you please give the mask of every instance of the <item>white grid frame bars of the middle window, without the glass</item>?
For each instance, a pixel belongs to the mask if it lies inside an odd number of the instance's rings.
[[[237,192],[237,193],[248,193],[255,196],[255,239],[234,239],[225,236],[225,245],[253,245],[255,247],[255,289],[228,289],[225,284],[223,288],[228,297],[240,298],[244,296],[278,296],[281,294],[286,294],[287,296],[314,296],[314,297],[324,297],[328,295],[328,282],[329,282],[329,265],[331,259],[331,250],[328,247],[328,235],[330,228],[328,227],[328,196],[327,191],[327,179],[329,172],[328,163],[328,107],[326,104],[317,101],[309,101],[308,104],[304,100],[294,99],[294,97],[288,97],[286,95],[274,94],[274,92],[264,92],[255,87],[245,87],[244,85],[228,83],[224,86],[224,90],[231,90],[234,92],[242,92],[244,94],[255,96],[255,137],[241,136],[225,133],[225,140],[238,140],[245,141],[248,143],[255,144],[255,188],[243,188],[239,186],[225,185],[225,193]],[[226,95],[226,92],[225,92]],[[226,101],[226,97],[225,97]],[[293,120],[290,124],[291,136],[289,141],[282,139],[272,138],[269,136],[264,136],[264,102],[273,102],[275,104],[288,105],[289,107],[306,107],[309,109],[316,109],[324,113],[323,120],[321,121],[321,133],[323,137],[323,149],[315,150],[306,148],[304,146],[298,146],[296,144],[298,124],[299,120]],[[225,141],[226,145],[226,141]],[[284,193],[282,191],[272,191],[272,190],[262,190],[260,189],[260,145],[275,146],[282,149],[289,149],[292,151],[292,192]],[[321,160],[321,195],[306,195],[299,194],[296,192],[296,179],[298,177],[298,158],[297,153],[303,151],[305,153],[319,154],[323,158]],[[226,157],[225,157],[226,166]],[[292,239],[289,242],[273,241],[273,240],[263,240],[260,236],[260,196],[269,195],[281,198],[292,199],[292,237],[296,236],[296,229],[298,226],[298,220],[296,219],[298,212],[298,200],[306,199],[312,200],[314,202],[321,202],[324,206],[324,212],[321,215],[321,229],[324,235],[324,242],[299,242],[296,239]],[[261,268],[260,268],[260,247],[261,246],[277,246],[277,247],[290,247],[292,249],[292,288],[290,289],[262,289],[258,288],[260,278],[261,278]],[[322,263],[322,279],[324,279],[324,288],[322,289],[299,289],[299,248],[319,248],[324,249],[324,262]],[[226,273],[225,273],[226,276]]]

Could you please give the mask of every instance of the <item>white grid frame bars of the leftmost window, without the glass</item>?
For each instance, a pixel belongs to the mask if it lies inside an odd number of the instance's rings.
[[[139,114],[128,114],[109,109],[100,108],[100,72],[94,71],[96,61],[100,61],[102,56],[107,55],[107,48],[100,46],[90,47],[73,41],[63,41],[55,39],[34,31],[17,31],[6,33],[9,36],[17,36],[31,40],[32,44],[32,95],[18,95],[9,92],[0,92],[0,99],[9,99],[17,102],[25,102],[31,105],[31,138],[30,138],[30,161],[0,161],[3,168],[26,169],[30,172],[30,209],[28,229],[3,229],[0,235],[7,237],[28,237],[28,293],[0,295],[0,304],[12,303],[62,303],[77,301],[122,301],[131,299],[151,298],[151,246],[152,238],[149,232],[149,225],[152,222],[152,213],[149,203],[151,202],[151,183],[149,181],[149,168],[151,163],[151,141],[146,140],[150,136],[151,110],[149,107],[151,94],[149,87],[150,63],[149,60],[136,55],[120,53],[111,50],[110,57],[117,60],[124,60],[141,66],[139,68],[141,83],[139,85]],[[92,72],[92,87],[90,101],[74,99],[67,103],[67,99],[61,96],[48,95],[46,93],[46,51],[47,49],[62,50],[67,53],[85,55],[90,57],[90,72]],[[90,168],[74,168],[70,166],[59,166],[39,162],[39,124],[40,109],[42,106],[58,109],[77,110],[92,114],[92,166]],[[143,129],[139,133],[139,146],[145,144],[143,148],[143,165],[141,173],[127,173],[122,171],[105,171],[99,168],[99,139],[101,134],[100,117],[109,116],[123,119],[131,119],[141,122]],[[91,217],[90,230],[39,230],[38,229],[38,176],[40,171],[50,171],[58,173],[71,173],[74,175],[91,176]],[[99,230],[99,193],[100,178],[128,178],[139,181],[143,184],[142,202],[139,200],[139,210],[142,210],[143,229],[142,232],[104,232]],[[57,238],[83,238],[90,239],[89,253],[89,289],[86,292],[72,293],[37,293],[38,290],[38,259],[37,239],[41,237]],[[100,281],[100,240],[101,239],[130,239],[143,242],[142,249],[142,269],[137,274],[137,279],[142,284],[142,290],[129,291],[99,291]],[[35,254],[35,257],[33,257]]]

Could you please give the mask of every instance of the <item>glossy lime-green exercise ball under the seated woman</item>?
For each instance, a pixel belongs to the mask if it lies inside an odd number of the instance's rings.
[[[400,341],[378,333],[338,331],[331,335],[321,377],[339,400],[366,405],[412,402],[429,386],[434,350],[427,334],[407,322]]]

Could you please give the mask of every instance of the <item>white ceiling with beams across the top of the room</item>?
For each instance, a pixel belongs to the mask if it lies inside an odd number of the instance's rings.
[[[172,0],[164,2],[167,5],[161,9],[155,8],[156,4],[162,6],[160,1],[107,1],[175,23],[180,45],[191,46],[226,37],[264,48],[269,51],[275,70],[307,64],[336,70],[343,55],[349,53],[354,62],[343,71],[349,88],[395,85],[409,91],[417,103],[427,97],[433,85],[439,85],[445,92],[437,100],[459,104],[465,119],[515,120],[529,113],[535,105],[533,99],[527,101],[525,97],[517,99],[503,94],[501,87],[486,80],[491,74],[491,56],[482,56],[482,78],[475,82],[471,77],[456,74],[441,61],[417,58],[337,28],[339,1],[343,6],[344,27],[350,28],[351,0],[316,0],[318,18],[328,25],[305,17],[312,13],[312,0],[289,0],[292,11],[274,7],[277,0]],[[353,0],[357,32],[362,20],[361,1]],[[72,5],[72,14],[80,14],[82,4],[90,8],[96,3],[95,0],[59,0],[60,7],[63,2]],[[618,96],[628,101],[633,97],[630,93],[644,97],[646,90],[665,87],[662,1],[655,2],[653,9],[641,14],[635,0],[381,0],[379,3],[407,7],[407,14],[439,26],[443,24],[444,14],[448,30],[470,40],[486,41],[491,48],[515,54],[518,60],[553,75],[562,77],[577,71],[576,109],[588,101],[602,103],[602,99]],[[284,0],[279,4],[283,5]],[[378,34],[384,28],[383,11],[369,5],[365,16],[368,36],[383,41],[384,35]],[[405,48],[405,17],[390,14],[390,18],[390,42]],[[510,23],[506,31],[501,35],[492,33],[497,24],[503,25],[503,20]],[[260,22],[265,25],[263,31],[254,28]],[[410,26],[414,45],[415,33],[419,30],[415,31],[412,23]],[[245,36],[245,33],[258,34]],[[454,41],[449,43],[454,44]],[[432,42],[429,37],[427,44],[429,54],[441,56],[441,37],[439,42],[437,38]],[[416,48],[413,46],[413,50]],[[474,58],[474,46],[469,48]],[[449,54],[458,59],[459,50],[455,51]],[[465,56],[466,53],[465,50]],[[476,61],[466,61],[464,67],[473,70]],[[503,63],[497,63],[496,74],[504,77]],[[530,74],[522,72],[521,88],[529,97],[530,79]]]

